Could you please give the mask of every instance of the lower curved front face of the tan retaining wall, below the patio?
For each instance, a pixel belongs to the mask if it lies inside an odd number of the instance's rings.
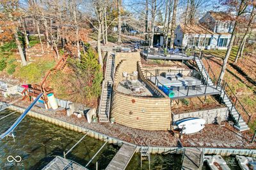
[[[170,99],[129,96],[117,92],[115,86],[113,88],[111,117],[115,118],[115,122],[148,131],[170,129]]]

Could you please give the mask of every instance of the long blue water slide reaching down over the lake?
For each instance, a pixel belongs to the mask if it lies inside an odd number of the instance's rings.
[[[33,103],[31,103],[28,108],[26,108],[26,110],[24,111],[24,113],[22,113],[20,115],[20,117],[14,122],[14,124],[3,134],[1,134],[0,136],[0,140],[3,139],[5,136],[7,136],[8,134],[10,134],[16,127],[17,125],[20,124],[21,120],[27,115],[27,113],[31,110],[31,108],[33,108],[33,106],[35,106],[36,102],[38,102],[38,100],[40,99],[40,97],[42,97],[42,93],[39,94],[36,99],[33,101]]]

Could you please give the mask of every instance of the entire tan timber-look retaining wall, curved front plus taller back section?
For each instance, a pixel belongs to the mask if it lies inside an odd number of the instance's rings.
[[[117,53],[115,57],[115,78],[111,102],[111,117],[118,124],[148,131],[169,130],[171,124],[170,98],[159,91],[150,81],[145,80],[140,63],[140,53]],[[141,80],[154,90],[159,97],[141,97],[122,94],[116,85],[124,80],[123,72],[138,71]]]

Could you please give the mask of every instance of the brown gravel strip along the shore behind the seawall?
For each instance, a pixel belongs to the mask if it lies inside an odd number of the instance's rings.
[[[10,102],[13,99],[0,97],[0,101]],[[20,101],[13,104],[22,108],[26,108],[29,103]],[[145,131],[141,129],[133,129],[120,124],[110,123],[91,123],[89,124],[86,117],[77,118],[74,115],[67,117],[65,109],[58,111],[49,111],[35,106],[32,111],[46,115],[52,118],[58,118],[71,124],[86,127],[92,131],[106,134],[113,138],[133,143],[135,145],[149,145],[160,147],[178,146],[178,138],[173,135],[172,131]],[[225,122],[225,126],[219,128],[218,125],[205,125],[201,132],[196,134],[183,135],[180,139],[183,146],[186,147],[205,147],[205,148],[246,148],[255,149],[256,143],[250,143],[252,134],[249,132],[238,132],[234,127]]]

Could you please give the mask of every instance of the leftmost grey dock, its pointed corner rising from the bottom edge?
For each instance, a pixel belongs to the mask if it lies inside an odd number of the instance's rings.
[[[42,170],[56,170],[56,169],[77,169],[77,170],[88,170],[86,167],[83,167],[72,160],[68,160],[62,157],[55,157],[47,166]]]

